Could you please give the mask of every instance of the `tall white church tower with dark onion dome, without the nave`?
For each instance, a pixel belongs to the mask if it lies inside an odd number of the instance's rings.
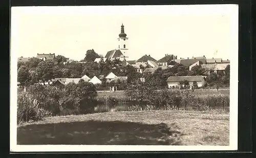
[[[121,33],[119,34],[118,40],[118,49],[121,50],[123,54],[123,60],[126,60],[129,58],[129,53],[128,53],[128,47],[127,47],[127,40],[128,38],[126,37],[127,35],[124,33],[124,26],[123,24],[121,25]],[[122,58],[122,57],[121,57]]]

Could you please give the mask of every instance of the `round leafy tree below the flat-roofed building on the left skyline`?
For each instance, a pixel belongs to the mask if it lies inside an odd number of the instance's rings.
[[[52,61],[40,62],[35,69],[36,76],[45,83],[54,77],[53,67],[54,63]]]

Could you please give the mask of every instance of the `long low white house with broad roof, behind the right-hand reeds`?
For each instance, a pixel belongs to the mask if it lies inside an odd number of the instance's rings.
[[[206,84],[204,76],[170,76],[167,78],[166,82],[168,88],[179,86],[182,81],[188,81],[190,86],[197,83],[198,87],[203,87]]]

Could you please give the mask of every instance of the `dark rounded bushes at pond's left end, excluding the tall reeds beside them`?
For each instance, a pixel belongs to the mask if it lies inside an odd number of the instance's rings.
[[[53,116],[86,113],[93,108],[97,97],[95,86],[83,80],[78,84],[69,83],[63,89],[51,85],[31,85],[28,94],[38,101],[38,107]]]

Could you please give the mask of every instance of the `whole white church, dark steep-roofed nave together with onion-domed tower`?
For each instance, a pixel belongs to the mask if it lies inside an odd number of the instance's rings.
[[[126,61],[129,58],[129,48],[127,47],[127,35],[124,33],[124,25],[121,25],[121,33],[119,34],[118,49],[110,50],[106,53],[105,58],[108,60],[119,59]]]

